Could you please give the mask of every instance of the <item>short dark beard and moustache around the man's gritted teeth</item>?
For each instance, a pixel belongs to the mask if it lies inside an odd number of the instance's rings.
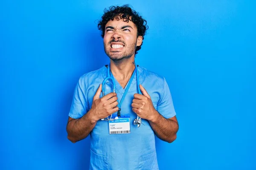
[[[110,44],[111,42],[122,42],[122,41],[110,41],[108,44]],[[123,42],[124,43],[124,42]],[[126,45],[125,43],[125,46],[122,51],[122,54],[119,53],[119,51],[109,51],[108,50],[108,44],[104,43],[104,50],[105,50],[105,53],[108,55],[108,57],[110,59],[112,59],[114,62],[122,62],[122,61],[125,61],[129,58],[131,58],[132,55],[135,54],[135,49],[136,49],[136,44],[137,44],[137,40],[136,42],[130,44],[130,45]]]

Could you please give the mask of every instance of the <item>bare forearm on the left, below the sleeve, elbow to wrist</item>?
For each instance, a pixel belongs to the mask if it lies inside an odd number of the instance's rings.
[[[67,138],[73,143],[86,138],[95,127],[96,122],[91,110],[80,119],[70,120],[67,123]]]

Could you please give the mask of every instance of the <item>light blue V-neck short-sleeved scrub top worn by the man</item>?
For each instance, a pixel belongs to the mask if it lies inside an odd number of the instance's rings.
[[[69,116],[79,119],[86,114],[93,103],[99,85],[107,77],[107,68],[89,72],[80,77],[76,85]],[[151,96],[154,108],[169,119],[176,115],[172,96],[164,77],[138,67],[139,82]],[[120,101],[125,89],[116,82],[116,94]],[[155,133],[149,122],[142,119],[142,125],[133,125],[137,118],[131,103],[138,93],[137,78],[129,80],[131,87],[122,99],[121,114],[130,114],[131,133],[109,134],[108,121],[99,120],[90,133],[90,170],[158,170],[155,149]],[[106,94],[112,92],[112,84],[105,84]],[[101,96],[102,97],[102,94]]]

